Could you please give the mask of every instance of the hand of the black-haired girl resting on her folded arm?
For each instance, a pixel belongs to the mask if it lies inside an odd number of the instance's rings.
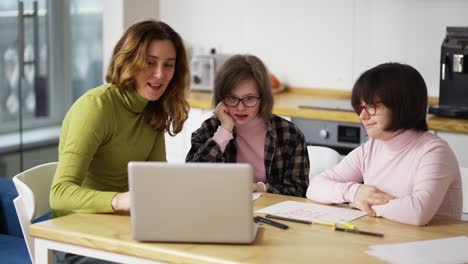
[[[395,197],[379,190],[372,185],[363,184],[357,189],[356,195],[354,196],[354,201],[350,203],[350,206],[361,209],[371,216],[376,216],[371,206],[386,204],[389,200],[392,199],[395,199]]]

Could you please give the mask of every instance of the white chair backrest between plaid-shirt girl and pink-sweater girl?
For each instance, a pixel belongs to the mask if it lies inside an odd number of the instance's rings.
[[[329,147],[307,146],[307,153],[310,163],[309,180],[322,171],[333,167],[341,159],[340,153]]]

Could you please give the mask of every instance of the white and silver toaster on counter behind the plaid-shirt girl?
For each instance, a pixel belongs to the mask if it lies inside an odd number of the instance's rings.
[[[216,73],[227,58],[229,55],[216,54],[214,49],[211,54],[193,56],[190,60],[192,90],[213,91]]]

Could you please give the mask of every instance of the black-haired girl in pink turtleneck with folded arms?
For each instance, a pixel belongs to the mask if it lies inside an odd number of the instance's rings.
[[[351,103],[369,140],[315,176],[307,197],[349,202],[411,225],[436,214],[459,219],[459,166],[448,144],[427,131],[427,88],[419,72],[398,63],[372,68],[356,81]]]

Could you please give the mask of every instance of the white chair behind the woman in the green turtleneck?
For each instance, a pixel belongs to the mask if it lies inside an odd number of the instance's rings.
[[[13,200],[18,214],[29,257],[34,263],[34,243],[29,236],[31,222],[50,212],[49,194],[57,162],[45,163],[23,171],[13,177],[18,197]]]

